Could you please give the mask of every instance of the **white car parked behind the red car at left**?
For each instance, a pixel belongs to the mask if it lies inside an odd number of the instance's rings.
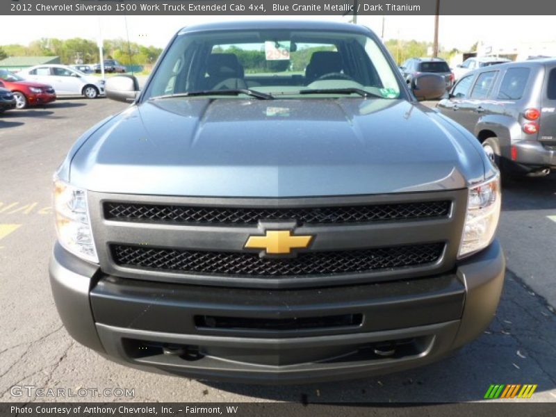
[[[95,99],[104,95],[104,79],[87,75],[67,65],[36,65],[17,73],[26,80],[52,85],[56,95],[83,95]]]

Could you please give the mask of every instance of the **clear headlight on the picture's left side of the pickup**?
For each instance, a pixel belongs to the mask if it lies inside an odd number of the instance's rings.
[[[60,245],[82,259],[98,263],[85,190],[55,179],[54,211]]]

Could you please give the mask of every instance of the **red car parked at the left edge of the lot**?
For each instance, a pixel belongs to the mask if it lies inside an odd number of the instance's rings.
[[[56,100],[56,92],[51,85],[26,81],[6,70],[0,70],[0,87],[13,92],[16,101],[15,108],[37,106]]]

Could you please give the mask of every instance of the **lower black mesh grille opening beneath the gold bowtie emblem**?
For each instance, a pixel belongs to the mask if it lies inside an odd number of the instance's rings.
[[[115,263],[131,268],[191,274],[283,277],[334,275],[402,268],[435,262],[443,243],[336,252],[304,252],[295,258],[261,258],[248,252],[204,252],[112,245]]]

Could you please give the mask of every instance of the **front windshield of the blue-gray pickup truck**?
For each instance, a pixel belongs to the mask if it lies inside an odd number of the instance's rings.
[[[400,96],[382,49],[366,35],[250,30],[178,35],[143,99],[218,90],[250,90],[275,98],[314,97],[307,90],[318,97],[327,97],[326,90],[334,90],[331,97]],[[248,96],[240,91],[225,97]]]

